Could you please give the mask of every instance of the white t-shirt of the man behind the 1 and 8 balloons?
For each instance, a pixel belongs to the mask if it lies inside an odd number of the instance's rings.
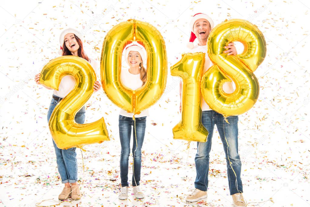
[[[212,65],[213,63],[211,62],[209,56],[208,56],[208,46],[204,45],[204,46],[199,46],[196,45],[194,46],[193,49],[189,50],[188,52],[194,53],[194,52],[204,52],[206,53],[206,61],[205,61],[205,67],[204,67],[204,71],[203,73],[205,73]],[[232,93],[234,92],[236,89],[236,85],[235,83],[232,82],[225,82],[223,84],[223,90],[226,93]],[[205,99],[203,99],[203,96],[201,95],[201,104],[200,104],[201,110],[202,111],[209,111],[212,110],[209,105],[206,103]]]

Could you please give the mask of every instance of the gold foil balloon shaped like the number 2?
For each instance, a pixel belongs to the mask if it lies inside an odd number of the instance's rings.
[[[57,147],[60,149],[81,148],[85,144],[109,140],[103,117],[87,124],[78,124],[74,121],[75,114],[94,92],[96,75],[89,62],[71,55],[52,59],[42,69],[40,84],[58,90],[61,79],[66,75],[72,75],[75,78],[75,86],[57,104],[48,123]]]

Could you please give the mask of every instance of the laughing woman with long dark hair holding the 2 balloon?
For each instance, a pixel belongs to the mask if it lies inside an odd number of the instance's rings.
[[[86,59],[94,69],[96,69],[95,60],[90,60],[83,50],[82,37],[80,33],[75,29],[65,29],[60,34],[60,49],[62,50],[62,55],[74,55],[79,56],[81,58]],[[35,81],[37,84],[39,83],[40,73],[35,76]],[[75,79],[73,76],[65,76],[60,81],[59,90],[54,90],[50,107],[47,112],[47,120],[50,120],[51,114],[59,103],[61,99],[63,99],[69,92],[74,88]],[[44,86],[47,88],[46,86]],[[99,81],[95,81],[94,91],[98,91],[101,85]],[[47,88],[51,90],[50,88]],[[83,124],[85,121],[85,106],[78,111],[75,115],[74,120],[78,124]],[[76,158],[76,148],[69,148],[66,150],[62,150],[57,148],[54,140],[53,140],[55,152],[56,152],[56,160],[58,171],[61,177],[61,182],[64,183],[64,189],[58,196],[59,200],[66,200],[71,195],[72,200],[79,200],[82,196],[80,192],[80,187],[78,186],[78,162]],[[70,185],[71,183],[71,185]]]

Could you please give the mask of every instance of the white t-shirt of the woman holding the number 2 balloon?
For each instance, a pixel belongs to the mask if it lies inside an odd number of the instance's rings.
[[[100,70],[98,67],[98,63],[95,59],[89,59],[91,66],[94,68],[97,80],[100,81],[99,75]],[[66,95],[70,93],[70,91],[74,88],[75,79],[71,75],[64,76],[61,81],[58,90],[54,90],[53,95],[56,95],[60,98],[64,98]]]

